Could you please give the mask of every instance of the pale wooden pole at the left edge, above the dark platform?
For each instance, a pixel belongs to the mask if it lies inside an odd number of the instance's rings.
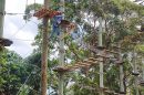
[[[6,0],[0,0],[0,38],[3,36],[4,4]]]

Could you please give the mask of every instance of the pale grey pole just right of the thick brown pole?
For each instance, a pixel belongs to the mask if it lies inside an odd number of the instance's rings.
[[[61,7],[61,12],[64,12],[64,0],[60,0],[60,3],[62,3],[62,7]],[[63,14],[63,19],[64,19],[64,14]],[[61,66],[64,66],[64,39],[61,39],[63,38],[63,33],[64,31],[61,30],[61,33],[60,33],[60,50],[59,50],[59,64]],[[63,81],[63,73],[60,73],[59,74],[59,95],[63,95],[63,86],[64,86],[64,81]]]

